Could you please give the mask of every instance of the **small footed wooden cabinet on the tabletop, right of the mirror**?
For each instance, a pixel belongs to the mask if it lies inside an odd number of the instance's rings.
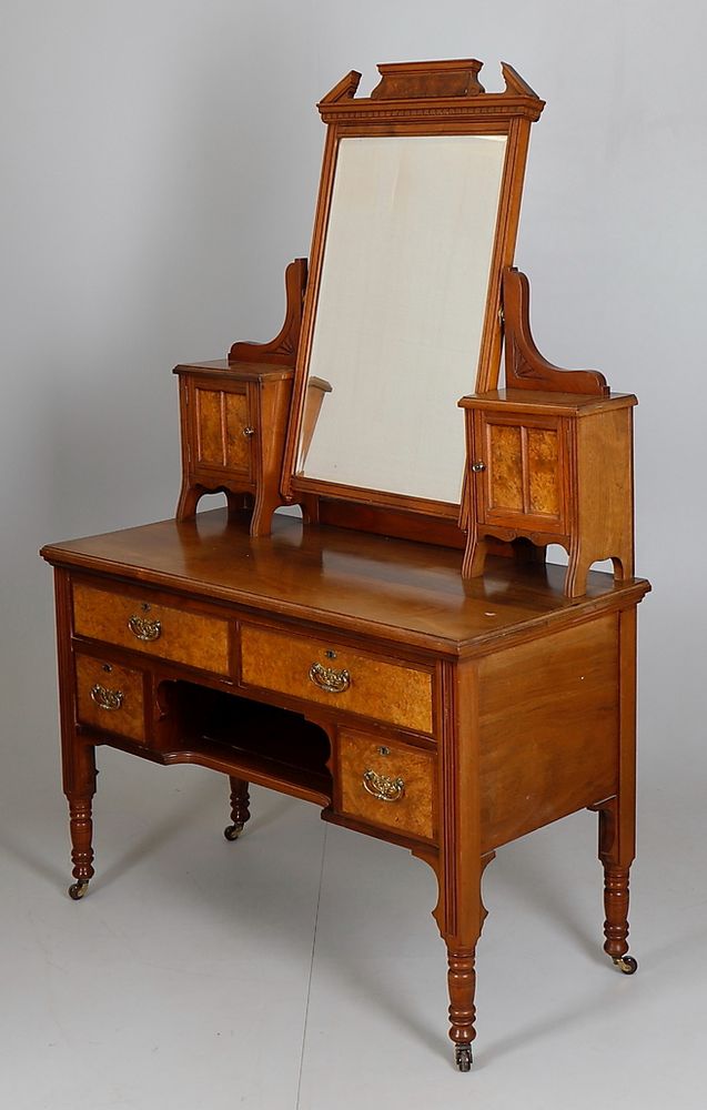
[[[465,577],[483,574],[486,541],[556,543],[569,556],[565,593],[589,567],[633,571],[632,394],[499,390],[462,397],[467,446]]]

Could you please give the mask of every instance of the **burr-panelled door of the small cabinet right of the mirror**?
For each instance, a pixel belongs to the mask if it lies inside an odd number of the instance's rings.
[[[566,532],[567,428],[560,417],[475,414],[479,521]]]

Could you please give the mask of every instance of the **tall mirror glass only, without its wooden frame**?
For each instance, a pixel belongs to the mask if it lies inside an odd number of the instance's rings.
[[[504,135],[342,139],[309,375],[324,397],[297,473],[455,503]],[[443,446],[444,450],[441,450]]]

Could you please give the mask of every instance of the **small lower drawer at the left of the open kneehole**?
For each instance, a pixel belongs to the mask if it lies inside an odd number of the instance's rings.
[[[77,655],[77,706],[81,725],[92,725],[144,743],[141,670]]]

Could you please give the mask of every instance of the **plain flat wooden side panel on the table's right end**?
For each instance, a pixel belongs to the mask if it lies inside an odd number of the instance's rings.
[[[488,656],[479,669],[483,851],[616,793],[616,614]]]

